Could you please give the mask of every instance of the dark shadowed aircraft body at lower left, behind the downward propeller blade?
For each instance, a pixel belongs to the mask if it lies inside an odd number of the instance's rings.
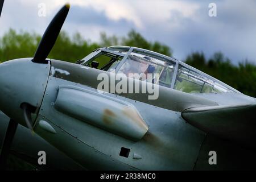
[[[0,146],[7,130],[10,118],[0,111]],[[47,165],[38,164],[38,152],[45,151],[47,154]],[[68,156],[51,146],[46,140],[22,125],[19,125],[10,148],[10,154],[22,159],[38,169],[44,170],[85,170]]]

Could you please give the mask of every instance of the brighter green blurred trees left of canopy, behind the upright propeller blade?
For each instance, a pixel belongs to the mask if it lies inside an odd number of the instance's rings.
[[[0,39],[0,63],[1,61],[21,57],[33,57],[40,39],[41,36],[38,34],[23,31],[17,33],[15,30],[10,29]],[[117,38],[116,36],[107,36],[105,33],[102,33],[100,43],[84,40],[79,33],[76,33],[71,38],[67,32],[62,31],[48,57],[75,63],[96,48],[118,44],[146,48],[171,56],[171,49],[168,46],[159,42],[147,42],[142,35],[132,30],[129,32],[128,38]]]

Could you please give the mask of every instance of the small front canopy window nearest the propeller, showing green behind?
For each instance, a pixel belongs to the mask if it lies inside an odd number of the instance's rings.
[[[117,65],[122,60],[122,58],[122,56],[114,55],[109,52],[101,52],[87,61],[85,66],[101,69],[104,71],[113,71],[115,65]]]

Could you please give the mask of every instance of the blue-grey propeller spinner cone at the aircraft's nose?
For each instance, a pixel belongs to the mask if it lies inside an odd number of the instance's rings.
[[[51,67],[49,63],[31,60],[16,59],[0,64],[0,110],[24,126],[27,125],[20,105],[40,107]]]

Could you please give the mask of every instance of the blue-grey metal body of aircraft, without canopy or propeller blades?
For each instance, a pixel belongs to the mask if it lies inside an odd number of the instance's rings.
[[[0,109],[24,125],[20,104],[35,106],[35,133],[86,169],[255,168],[254,150],[205,133],[181,114],[193,107],[254,104],[255,98],[241,93],[188,94],[163,86],[157,100],[148,100],[147,94],[102,93],[97,90],[102,72],[110,74],[58,60],[7,61],[0,64]],[[127,127],[120,123],[122,115]],[[130,150],[127,158],[119,155],[122,147]],[[210,150],[217,152],[218,165],[209,165]]]

